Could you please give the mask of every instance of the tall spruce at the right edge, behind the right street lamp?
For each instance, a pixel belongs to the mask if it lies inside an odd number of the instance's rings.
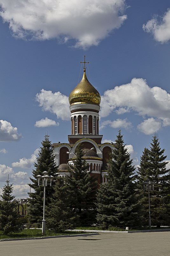
[[[154,191],[150,192],[150,208],[152,225],[170,225],[170,174],[166,169],[167,163],[164,155],[165,149],[161,149],[159,139],[154,134],[150,149],[145,148],[140,159],[138,168],[138,180],[141,183],[146,179],[155,182]],[[143,191],[141,204],[143,205],[144,224],[147,225],[148,218],[148,192]]]

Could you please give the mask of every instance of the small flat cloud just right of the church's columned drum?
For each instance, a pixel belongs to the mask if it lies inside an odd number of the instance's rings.
[[[114,121],[106,120],[103,121],[100,125],[100,129],[105,128],[106,125],[109,125],[112,128],[125,128],[126,130],[130,130],[132,128],[132,123],[127,121],[127,118],[125,119],[116,119]]]

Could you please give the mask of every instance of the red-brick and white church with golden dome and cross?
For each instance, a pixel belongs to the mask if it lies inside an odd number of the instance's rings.
[[[53,143],[53,154],[58,165],[58,176],[70,175],[68,163],[73,164],[76,158],[75,149],[79,143],[84,149],[84,158],[89,164],[89,170],[98,180],[98,183],[107,182],[107,162],[110,159],[110,152],[114,144],[101,143],[103,135],[99,135],[99,110],[101,96],[92,86],[86,76],[86,66],[84,64],[84,74],[78,85],[69,95],[71,112],[71,134],[68,135],[67,142]]]

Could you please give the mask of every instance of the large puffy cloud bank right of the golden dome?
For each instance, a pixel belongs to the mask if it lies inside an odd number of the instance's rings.
[[[133,78],[128,84],[107,90],[101,98],[101,117],[108,116],[112,111],[117,114],[134,111],[144,118],[151,117],[138,126],[138,129],[144,133],[146,133],[146,123],[150,125],[148,129],[150,132],[154,125],[154,131],[170,125],[170,94],[160,87],[150,88],[142,78]],[[107,124],[110,124],[109,121]]]

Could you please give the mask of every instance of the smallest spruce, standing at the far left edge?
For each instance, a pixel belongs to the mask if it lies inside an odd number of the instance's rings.
[[[17,201],[12,195],[13,184],[10,184],[9,175],[6,184],[2,189],[2,200],[0,201],[0,230],[5,235],[10,232],[19,232],[23,229],[23,224],[18,219]]]

